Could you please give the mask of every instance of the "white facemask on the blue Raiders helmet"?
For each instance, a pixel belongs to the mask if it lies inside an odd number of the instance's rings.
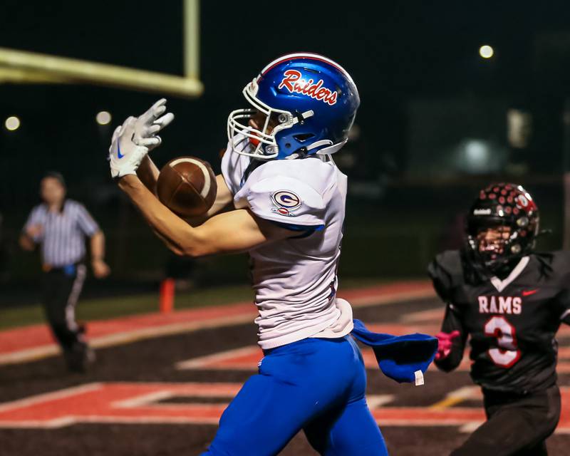
[[[291,128],[296,123],[313,115],[313,111],[309,110],[301,115],[294,115],[287,110],[271,108],[271,106],[263,103],[257,98],[257,80],[245,86],[243,92],[246,100],[253,108],[237,109],[229,113],[227,120],[227,136],[233,150],[240,155],[247,155],[258,160],[271,160],[279,155],[279,145],[277,144],[276,135]],[[255,128],[249,125],[255,115],[262,113],[265,115],[263,128]],[[272,128],[271,128],[272,127]],[[249,139],[252,147],[239,147],[239,143],[245,138]]]

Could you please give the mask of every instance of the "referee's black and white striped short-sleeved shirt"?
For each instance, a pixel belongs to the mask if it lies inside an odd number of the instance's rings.
[[[47,204],[34,207],[24,230],[38,224],[43,232],[33,242],[41,244],[43,263],[53,267],[81,261],[86,252],[85,238],[99,230],[85,206],[73,199],[66,199],[61,212],[50,212]]]

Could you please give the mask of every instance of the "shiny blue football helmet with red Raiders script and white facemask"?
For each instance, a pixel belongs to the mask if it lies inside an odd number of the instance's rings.
[[[346,70],[315,53],[277,58],[243,94],[253,108],[229,114],[228,140],[235,152],[261,160],[337,152],[348,140],[360,105]],[[264,115],[262,129],[250,122],[259,113]],[[247,147],[244,137],[249,138]]]

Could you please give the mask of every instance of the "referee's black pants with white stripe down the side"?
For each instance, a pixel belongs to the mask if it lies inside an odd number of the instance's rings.
[[[85,276],[84,264],[54,268],[43,274],[43,310],[64,354],[83,344],[75,311]]]

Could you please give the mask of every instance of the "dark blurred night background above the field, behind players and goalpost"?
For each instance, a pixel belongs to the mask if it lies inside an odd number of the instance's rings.
[[[4,0],[0,48],[182,76],[182,1]],[[230,110],[266,63],[291,51],[338,61],[362,105],[335,159],[349,177],[341,281],[423,277],[435,252],[462,243],[480,187],[527,187],[564,242],[570,156],[570,4],[535,1],[202,1],[197,98],[166,95],[175,123],[157,165],[197,155],[219,172]],[[174,259],[110,179],[113,128],[160,98],[85,83],[0,80],[0,306],[33,304],[39,261],[17,238],[46,170],[90,210],[113,274],[86,297],[157,290],[165,276],[203,289],[247,283],[244,256]],[[98,115],[99,114],[99,115]]]

